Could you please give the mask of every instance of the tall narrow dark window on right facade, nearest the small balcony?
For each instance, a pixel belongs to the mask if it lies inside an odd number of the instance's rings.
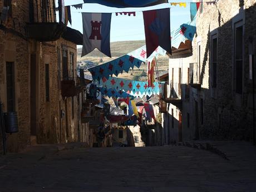
[[[211,37],[211,87],[217,85],[217,36]]]

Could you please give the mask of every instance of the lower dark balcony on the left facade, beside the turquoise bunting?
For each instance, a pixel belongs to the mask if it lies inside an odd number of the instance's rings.
[[[78,76],[77,70],[68,70],[58,73],[59,81],[61,81],[61,95],[63,97],[72,97],[78,95],[85,88],[82,76]]]

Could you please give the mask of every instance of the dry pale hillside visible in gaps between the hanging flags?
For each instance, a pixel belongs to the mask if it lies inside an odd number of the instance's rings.
[[[145,41],[119,41],[110,43],[112,58],[105,56],[99,50],[93,50],[86,56],[81,57],[82,48],[77,49],[77,66],[87,69],[93,66],[101,65],[105,62],[114,60],[126,53],[132,52],[145,45]],[[168,70],[168,56],[159,56],[157,66],[159,72]],[[147,81],[147,66],[141,65],[140,68],[134,67],[128,73],[124,72],[118,77],[137,81]],[[90,73],[86,70],[86,73]]]

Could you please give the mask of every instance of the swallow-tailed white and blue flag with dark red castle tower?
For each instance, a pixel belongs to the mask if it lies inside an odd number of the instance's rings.
[[[111,57],[110,24],[112,13],[82,13],[83,48],[82,56],[95,48]],[[81,56],[81,57],[82,57]]]

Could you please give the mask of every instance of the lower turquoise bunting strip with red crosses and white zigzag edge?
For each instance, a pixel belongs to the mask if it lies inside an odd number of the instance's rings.
[[[100,82],[96,82],[96,85],[98,87],[106,87],[106,90],[104,90],[106,93],[109,89],[114,90],[114,93],[122,90],[130,96],[140,98],[143,96],[159,95],[161,86],[158,82],[154,82],[152,86],[148,86],[147,82],[126,80],[117,77],[110,77],[109,80],[104,78]]]

